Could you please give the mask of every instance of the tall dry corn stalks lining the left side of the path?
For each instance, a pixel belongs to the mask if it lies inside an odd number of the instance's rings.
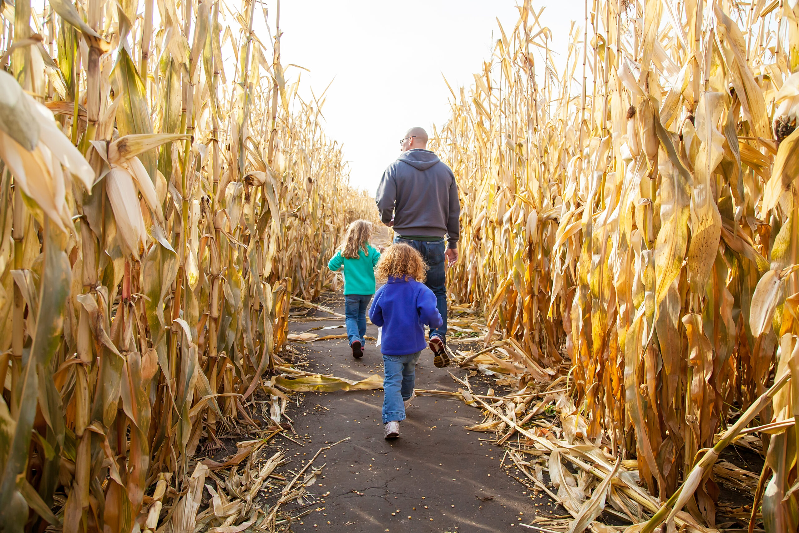
[[[191,533],[198,444],[374,211],[256,3],[0,0],[0,531]]]

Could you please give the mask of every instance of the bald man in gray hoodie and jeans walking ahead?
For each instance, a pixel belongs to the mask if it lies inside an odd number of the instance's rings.
[[[447,336],[446,266],[458,261],[460,201],[455,175],[435,153],[427,150],[427,132],[411,128],[400,141],[402,153],[380,179],[377,209],[385,225],[393,226],[394,242],[411,245],[427,263],[424,284],[435,294],[443,318],[431,328],[429,347],[433,363],[449,365],[444,349]],[[445,263],[446,261],[446,263]]]

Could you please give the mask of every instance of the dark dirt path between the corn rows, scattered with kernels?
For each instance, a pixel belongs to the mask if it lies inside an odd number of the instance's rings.
[[[336,311],[344,312],[341,297]],[[290,331],[337,324],[344,320],[292,322]],[[344,329],[317,332],[340,334]],[[369,324],[367,335],[376,337],[376,326]],[[308,360],[300,367],[304,370],[348,379],[382,376],[380,348],[374,340],[367,342],[361,360],[352,357],[346,339],[293,346]],[[435,368],[425,350],[416,368],[416,388],[457,390],[447,372],[467,374],[457,366]],[[418,396],[400,424],[400,438],[387,441],[382,402],[382,390],[306,392],[299,407],[287,409],[296,431],[311,440],[305,447],[282,443],[287,455],[299,454],[295,459],[312,457],[325,442],[350,437],[316,459],[316,466],[327,464],[324,478],[309,487],[320,498],[313,505],[319,511],[304,515],[292,531],[534,531],[519,527],[519,519],[529,523],[536,510],[554,511],[546,496],[532,499],[531,491],[500,468],[503,452],[487,442],[493,433],[464,429],[482,420],[478,409],[459,400]],[[510,473],[518,475],[512,467]]]

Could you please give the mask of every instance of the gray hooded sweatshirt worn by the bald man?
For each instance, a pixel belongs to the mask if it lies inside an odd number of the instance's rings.
[[[403,152],[383,173],[377,187],[377,209],[403,237],[443,237],[457,248],[460,202],[455,175],[435,153],[424,149]]]

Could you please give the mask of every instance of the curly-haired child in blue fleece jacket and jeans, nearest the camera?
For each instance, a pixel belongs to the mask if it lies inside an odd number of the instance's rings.
[[[369,320],[383,328],[383,424],[386,439],[400,436],[400,420],[415,396],[416,363],[427,346],[424,324],[443,324],[435,294],[424,284],[422,256],[408,245],[392,245],[380,257],[377,273],[387,283],[377,289]]]

